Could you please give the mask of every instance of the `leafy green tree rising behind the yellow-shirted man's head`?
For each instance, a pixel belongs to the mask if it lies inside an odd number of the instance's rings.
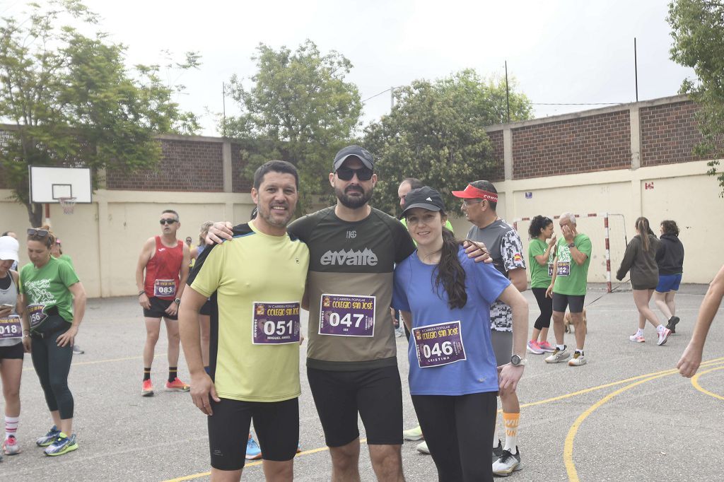
[[[221,132],[258,141],[256,153],[243,153],[247,173],[270,158],[295,164],[303,185],[302,211],[313,195],[329,193],[334,153],[360,124],[357,86],[345,81],[352,63],[336,51],[322,55],[310,40],[294,52],[260,43],[252,59],[258,72],[251,88],[237,76],[231,79],[230,95],[242,112],[222,122]]]

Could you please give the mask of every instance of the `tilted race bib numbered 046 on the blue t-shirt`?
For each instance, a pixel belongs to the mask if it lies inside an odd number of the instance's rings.
[[[460,321],[421,326],[412,331],[420,368],[466,360]]]

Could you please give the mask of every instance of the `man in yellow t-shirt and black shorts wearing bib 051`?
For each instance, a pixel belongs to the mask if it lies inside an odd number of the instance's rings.
[[[285,161],[254,174],[256,219],[203,251],[184,290],[179,320],[194,404],[209,415],[211,478],[240,480],[253,419],[267,480],[292,481],[299,440],[300,302],[309,250],[287,234],[299,176]],[[198,311],[211,298],[209,374]]]

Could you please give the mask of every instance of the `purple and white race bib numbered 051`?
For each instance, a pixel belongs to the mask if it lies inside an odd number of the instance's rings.
[[[252,306],[253,344],[299,343],[299,303],[255,301]]]

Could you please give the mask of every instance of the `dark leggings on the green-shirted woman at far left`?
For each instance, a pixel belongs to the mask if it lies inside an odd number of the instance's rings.
[[[69,343],[59,347],[56,341],[70,328],[70,323],[57,315],[51,315],[43,322],[39,331],[46,334],[43,338],[33,338],[33,358],[35,373],[41,381],[46,403],[51,412],[58,410],[60,418],[73,418],[73,395],[68,388],[68,373],[73,359],[73,347]],[[50,333],[50,334],[48,334]],[[70,436],[70,434],[68,434]]]

